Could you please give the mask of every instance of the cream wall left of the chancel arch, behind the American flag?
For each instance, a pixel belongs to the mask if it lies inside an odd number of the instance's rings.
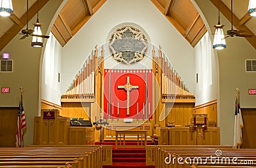
[[[46,32],[61,2],[62,0],[49,1],[40,10],[40,22],[44,23],[42,26],[43,33]],[[33,29],[32,23],[34,22],[36,22],[35,17],[29,22],[30,29]],[[13,73],[0,73],[0,87],[10,87],[10,94],[0,94],[0,106],[19,106],[19,88],[24,88],[23,102],[27,126],[24,134],[24,144],[26,145],[33,143],[33,118],[38,116],[38,104],[40,103],[40,99],[38,99],[40,89],[39,69],[42,48],[32,48],[32,38],[20,40],[21,36],[15,36],[0,52],[0,55],[3,52],[10,52],[10,57],[13,59]]]

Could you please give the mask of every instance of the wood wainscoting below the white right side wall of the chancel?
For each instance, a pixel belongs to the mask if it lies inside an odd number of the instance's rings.
[[[214,121],[218,127],[217,100],[195,106],[194,114],[207,114],[209,121]]]

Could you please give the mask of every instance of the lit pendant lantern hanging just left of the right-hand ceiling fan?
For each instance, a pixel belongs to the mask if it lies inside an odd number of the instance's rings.
[[[222,50],[223,48],[227,48],[224,33],[223,33],[223,27],[225,25],[220,24],[220,0],[219,0],[219,17],[218,17],[218,24],[214,25],[215,34],[214,34],[214,40],[212,48],[215,48],[216,50]]]

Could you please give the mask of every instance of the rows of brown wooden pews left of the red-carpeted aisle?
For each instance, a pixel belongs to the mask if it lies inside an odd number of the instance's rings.
[[[92,164],[87,165],[87,163],[84,162],[84,157],[88,157],[88,153],[94,154],[94,151],[97,151],[96,148],[84,148],[83,150],[77,148],[3,148],[0,149],[0,167],[42,166],[98,168],[100,167],[99,163],[92,166]],[[54,155],[54,157],[52,157],[52,155]],[[68,157],[63,157],[63,155],[67,155]],[[93,155],[92,158],[96,159],[96,157],[98,157],[98,155]],[[88,161],[91,160],[92,159],[89,159]]]

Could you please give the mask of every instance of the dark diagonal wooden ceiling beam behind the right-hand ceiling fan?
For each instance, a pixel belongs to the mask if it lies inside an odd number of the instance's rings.
[[[216,6],[216,8],[218,8],[219,6],[219,1],[218,0],[210,0],[212,4],[214,4],[214,6]],[[231,22],[231,10],[222,2],[220,1],[220,11],[221,13],[228,19],[229,22]],[[234,15],[234,13],[232,13],[233,15],[233,25],[234,27],[236,27],[237,30],[243,30],[246,31],[246,34],[253,34],[252,31],[250,31],[250,29],[248,29],[248,27],[246,25],[241,25],[240,27],[238,27],[237,25],[239,24],[240,20],[239,18],[236,17],[236,15]],[[230,24],[231,25],[231,24]],[[231,26],[230,26],[231,29]],[[256,36],[255,34],[253,34],[252,38],[246,38],[247,41],[249,41],[249,43],[256,48]]]

